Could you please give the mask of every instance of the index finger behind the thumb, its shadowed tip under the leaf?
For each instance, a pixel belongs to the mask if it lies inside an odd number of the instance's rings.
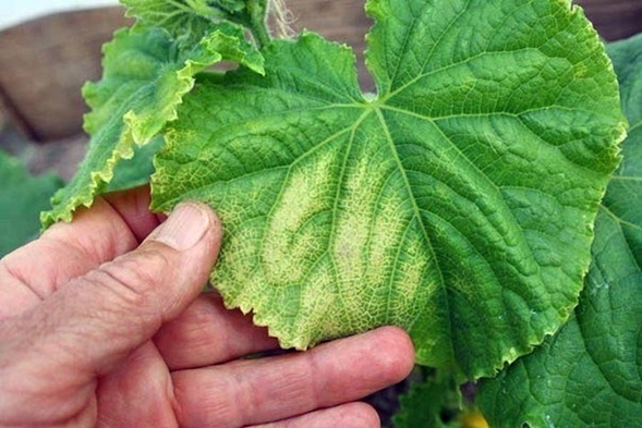
[[[134,249],[159,224],[149,209],[149,188],[97,198],[71,223],[57,223],[43,236],[0,260],[0,319],[27,310],[60,285]],[[38,269],[34,269],[37,262]]]

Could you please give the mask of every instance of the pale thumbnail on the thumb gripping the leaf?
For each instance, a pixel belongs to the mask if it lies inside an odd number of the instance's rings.
[[[158,227],[152,239],[179,252],[184,252],[201,241],[209,229],[209,216],[205,212],[205,207],[194,203],[182,203]]]

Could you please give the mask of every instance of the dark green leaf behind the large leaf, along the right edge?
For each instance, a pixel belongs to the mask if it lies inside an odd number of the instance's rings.
[[[642,420],[642,36],[610,45],[631,123],[595,223],[574,317],[477,400],[493,427],[635,427]]]

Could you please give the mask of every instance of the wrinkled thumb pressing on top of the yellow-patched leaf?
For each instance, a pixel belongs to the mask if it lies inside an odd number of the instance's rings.
[[[12,337],[23,343],[13,351],[22,348],[25,364],[56,362],[77,380],[109,372],[197,296],[221,234],[207,206],[179,205],[138,248],[63,285],[19,317],[13,326],[19,334]]]

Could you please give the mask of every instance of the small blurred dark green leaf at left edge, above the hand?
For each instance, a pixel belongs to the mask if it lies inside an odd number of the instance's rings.
[[[0,150],[0,257],[38,235],[38,215],[63,185],[54,174],[33,176]]]

